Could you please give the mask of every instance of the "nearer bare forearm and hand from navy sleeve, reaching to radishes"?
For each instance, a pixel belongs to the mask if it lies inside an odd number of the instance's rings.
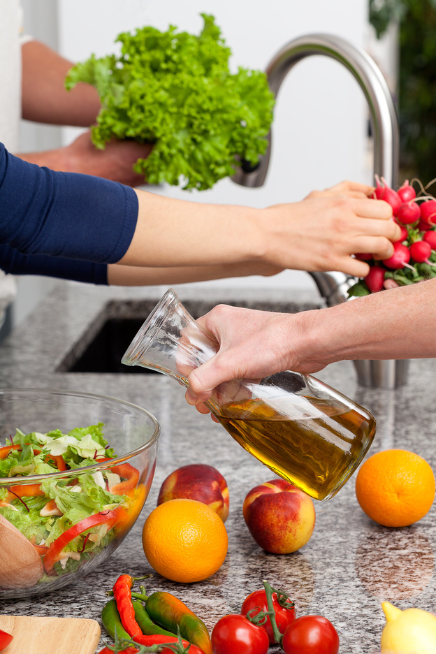
[[[351,182],[349,187],[350,193],[356,192]],[[342,270],[363,277],[368,264],[351,255],[390,256],[391,240],[398,238],[400,228],[390,220],[389,205],[359,192],[359,197],[326,192],[298,203],[252,209],[136,191],[138,225],[118,263],[208,266],[263,261],[279,268]]]

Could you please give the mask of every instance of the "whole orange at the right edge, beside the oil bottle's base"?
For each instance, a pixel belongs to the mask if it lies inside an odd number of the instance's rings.
[[[356,477],[356,497],[365,514],[384,527],[407,527],[429,511],[435,475],[418,454],[389,449],[373,454]]]

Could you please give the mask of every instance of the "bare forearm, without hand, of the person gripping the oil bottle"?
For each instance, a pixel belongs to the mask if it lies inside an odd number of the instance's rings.
[[[324,365],[342,359],[436,356],[436,279],[299,316],[303,358]]]

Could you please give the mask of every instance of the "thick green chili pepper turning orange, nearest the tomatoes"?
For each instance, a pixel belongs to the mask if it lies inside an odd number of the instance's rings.
[[[197,645],[204,654],[212,654],[212,643],[205,623],[174,595],[164,591],[152,593],[145,602],[145,610],[153,622],[173,634],[179,627],[184,639]]]

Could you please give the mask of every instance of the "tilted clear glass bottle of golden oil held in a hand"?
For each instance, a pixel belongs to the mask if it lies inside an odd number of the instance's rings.
[[[187,377],[218,351],[173,289],[165,293],[122,358],[188,386]],[[207,402],[243,448],[317,500],[342,488],[368,451],[375,419],[316,377],[279,372],[220,384]]]

